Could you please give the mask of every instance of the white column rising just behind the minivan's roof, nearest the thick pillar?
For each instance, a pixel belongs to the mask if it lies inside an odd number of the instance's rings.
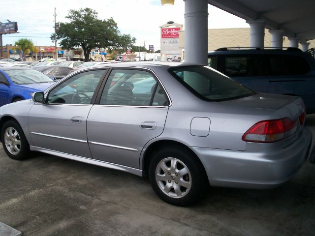
[[[265,21],[262,19],[246,21],[250,24],[250,47],[264,48]]]

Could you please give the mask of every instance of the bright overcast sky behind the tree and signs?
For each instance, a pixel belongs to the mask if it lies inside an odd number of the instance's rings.
[[[66,22],[69,9],[89,7],[98,12],[99,19],[113,17],[122,33],[137,39],[136,45],[160,48],[159,26],[168,21],[184,25],[184,1],[175,0],[173,6],[162,6],[160,0],[1,0],[0,22],[18,22],[18,34],[3,35],[3,45],[14,44],[19,38],[32,39],[40,46],[54,45],[54,8],[57,22]],[[245,20],[208,5],[208,28],[249,27]]]

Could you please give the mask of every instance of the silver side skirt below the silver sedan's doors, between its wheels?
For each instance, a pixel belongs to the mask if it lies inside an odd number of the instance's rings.
[[[50,149],[46,149],[46,148],[39,148],[39,147],[35,147],[35,146],[30,146],[30,149],[32,151],[40,151],[43,153],[56,155],[56,156],[60,156],[63,158],[67,158],[67,159],[71,159],[71,160],[75,160],[75,161],[80,161],[80,162],[84,162],[84,163],[88,163],[88,164],[92,164],[92,165],[96,165],[96,166],[102,166],[102,167],[106,167],[106,168],[110,168],[110,169],[114,169],[114,170],[125,171],[125,172],[131,173],[133,175],[140,176],[140,177],[143,176],[142,170],[128,167],[128,166],[123,166],[123,165],[114,164],[114,163],[110,163],[110,162],[106,162],[106,161],[91,159],[91,158],[87,158],[87,157],[83,157],[83,156],[76,156],[76,155],[72,155],[72,154],[68,154],[68,153],[64,153],[64,152],[60,152],[60,151],[54,151],[54,150],[50,150]]]

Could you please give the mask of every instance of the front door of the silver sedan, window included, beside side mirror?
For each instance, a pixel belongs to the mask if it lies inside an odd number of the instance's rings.
[[[75,74],[51,89],[45,103],[35,103],[29,113],[33,146],[91,158],[86,121],[97,85],[106,69]]]

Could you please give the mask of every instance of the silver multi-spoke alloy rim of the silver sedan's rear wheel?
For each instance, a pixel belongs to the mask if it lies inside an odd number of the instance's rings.
[[[167,157],[158,163],[156,180],[162,192],[172,198],[182,198],[191,189],[189,169],[174,157]]]

